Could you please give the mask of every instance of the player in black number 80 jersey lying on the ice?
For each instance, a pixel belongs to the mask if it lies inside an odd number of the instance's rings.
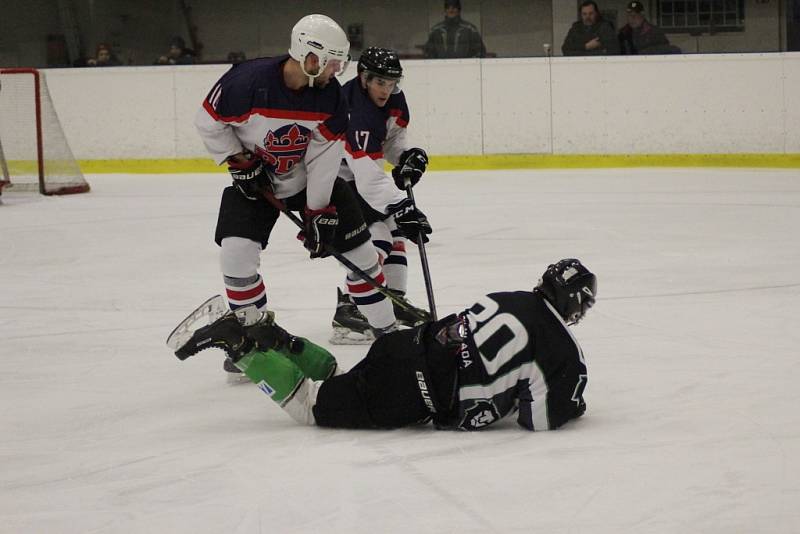
[[[303,424],[396,428],[432,419],[440,429],[477,430],[518,412],[528,430],[552,430],[586,410],[586,364],[567,325],[594,304],[596,290],[578,260],[561,260],[532,291],[491,293],[459,314],[379,337],[347,373],[255,308],[192,331],[192,319],[207,318],[201,306],[167,344],[181,360],[225,350]]]

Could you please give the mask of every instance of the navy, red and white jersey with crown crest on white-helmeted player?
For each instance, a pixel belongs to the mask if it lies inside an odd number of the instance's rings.
[[[208,93],[195,125],[217,163],[242,149],[257,154],[270,172],[278,198],[308,188],[308,205],[330,203],[344,155],[347,105],[334,78],[324,88],[289,89],[283,65],[289,56],[232,67]]]

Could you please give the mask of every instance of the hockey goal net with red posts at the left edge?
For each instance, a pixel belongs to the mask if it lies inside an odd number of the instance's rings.
[[[89,191],[36,69],[0,69],[0,189]]]

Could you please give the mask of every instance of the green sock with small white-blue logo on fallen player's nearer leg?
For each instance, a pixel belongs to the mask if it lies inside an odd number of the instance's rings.
[[[300,367],[274,350],[251,351],[235,365],[280,406],[291,398],[306,379]]]

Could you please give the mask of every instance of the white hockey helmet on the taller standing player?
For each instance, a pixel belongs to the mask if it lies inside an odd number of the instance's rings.
[[[336,76],[342,74],[350,62],[350,41],[344,30],[330,17],[325,15],[306,15],[292,28],[292,43],[289,55],[300,62],[300,68],[308,76],[308,84],[313,85],[314,78],[325,70],[328,62],[340,61]],[[305,69],[308,54],[319,58],[319,71],[309,74]]]

